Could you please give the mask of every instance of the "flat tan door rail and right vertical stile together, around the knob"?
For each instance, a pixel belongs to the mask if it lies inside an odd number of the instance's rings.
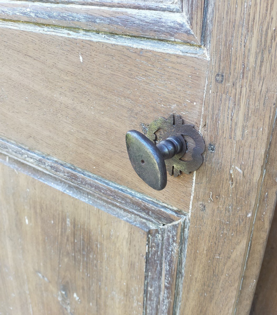
[[[208,72],[200,58],[3,30],[0,134],[189,211],[185,278],[170,307],[246,315],[276,197],[277,3],[206,3]],[[124,134],[171,112],[200,127],[205,160],[194,178],[152,193],[130,176]]]

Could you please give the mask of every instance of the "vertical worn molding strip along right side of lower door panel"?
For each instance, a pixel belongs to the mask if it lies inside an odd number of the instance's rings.
[[[143,315],[179,314],[188,227],[182,220],[148,232]]]

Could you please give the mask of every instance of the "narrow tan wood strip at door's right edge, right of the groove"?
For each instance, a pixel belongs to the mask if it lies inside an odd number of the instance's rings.
[[[271,298],[268,294],[262,294],[263,290],[268,290],[270,286],[274,286],[275,284],[266,284],[265,279],[272,279],[270,281],[273,282],[274,277],[274,264],[276,261],[271,258],[271,255],[274,256],[274,252],[272,248],[274,247],[274,238],[275,238],[275,229],[276,229],[276,218],[273,219],[273,223],[271,226],[272,217],[274,215],[274,209],[276,206],[277,200],[277,189],[276,189],[276,181],[277,181],[277,165],[276,165],[276,153],[277,153],[277,129],[276,129],[276,118],[275,124],[273,127],[273,133],[269,138],[268,143],[268,152],[265,158],[265,168],[263,173],[263,180],[261,189],[258,196],[258,206],[255,209],[254,214],[252,215],[252,228],[251,234],[249,236],[249,243],[247,249],[247,255],[244,264],[244,270],[241,275],[241,284],[237,297],[236,304],[236,314],[249,314],[249,309],[251,307],[251,302],[253,299],[253,292],[257,285],[257,282],[260,281],[260,286],[256,289],[256,293],[254,295],[253,306],[256,305],[257,308],[254,314],[270,314],[270,303]],[[275,210],[276,217],[276,210]],[[271,230],[270,230],[271,226]],[[269,240],[267,243],[268,234],[270,232]],[[266,250],[266,254],[264,256],[264,252]],[[272,260],[271,260],[272,259]],[[274,262],[273,262],[274,261]],[[262,266],[263,263],[263,266]],[[268,266],[267,266],[268,264]],[[259,277],[259,272],[261,270],[261,278],[262,280],[257,280]],[[270,275],[269,275],[270,274]],[[275,278],[276,279],[276,278]],[[259,282],[258,282],[259,283]],[[274,290],[273,290],[274,291]],[[276,292],[276,291],[275,291]],[[258,297],[255,297],[258,295]],[[262,297],[263,296],[263,297]],[[274,297],[274,300],[275,297]],[[274,301],[272,301],[274,302]],[[258,306],[261,305],[261,306]],[[262,306],[263,305],[263,306]],[[252,307],[253,307],[252,306]],[[259,312],[263,307],[267,307],[264,312]],[[255,307],[254,307],[255,309]],[[275,313],[277,308],[272,307],[272,314]]]

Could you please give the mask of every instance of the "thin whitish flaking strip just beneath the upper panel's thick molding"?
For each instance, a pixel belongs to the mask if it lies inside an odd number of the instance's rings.
[[[31,31],[53,36],[62,36],[69,38],[78,38],[90,40],[92,42],[102,42],[114,45],[123,45],[138,49],[149,49],[153,51],[186,55],[201,59],[207,59],[206,51],[203,47],[196,45],[187,45],[170,41],[154,40],[147,38],[130,37],[124,35],[107,34],[83,29],[46,26],[38,23],[14,22],[0,19],[1,28],[9,28],[20,31]]]

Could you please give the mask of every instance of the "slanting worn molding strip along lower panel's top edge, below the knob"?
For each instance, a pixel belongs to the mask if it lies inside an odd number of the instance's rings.
[[[145,231],[188,220],[181,210],[1,138],[0,162]]]

